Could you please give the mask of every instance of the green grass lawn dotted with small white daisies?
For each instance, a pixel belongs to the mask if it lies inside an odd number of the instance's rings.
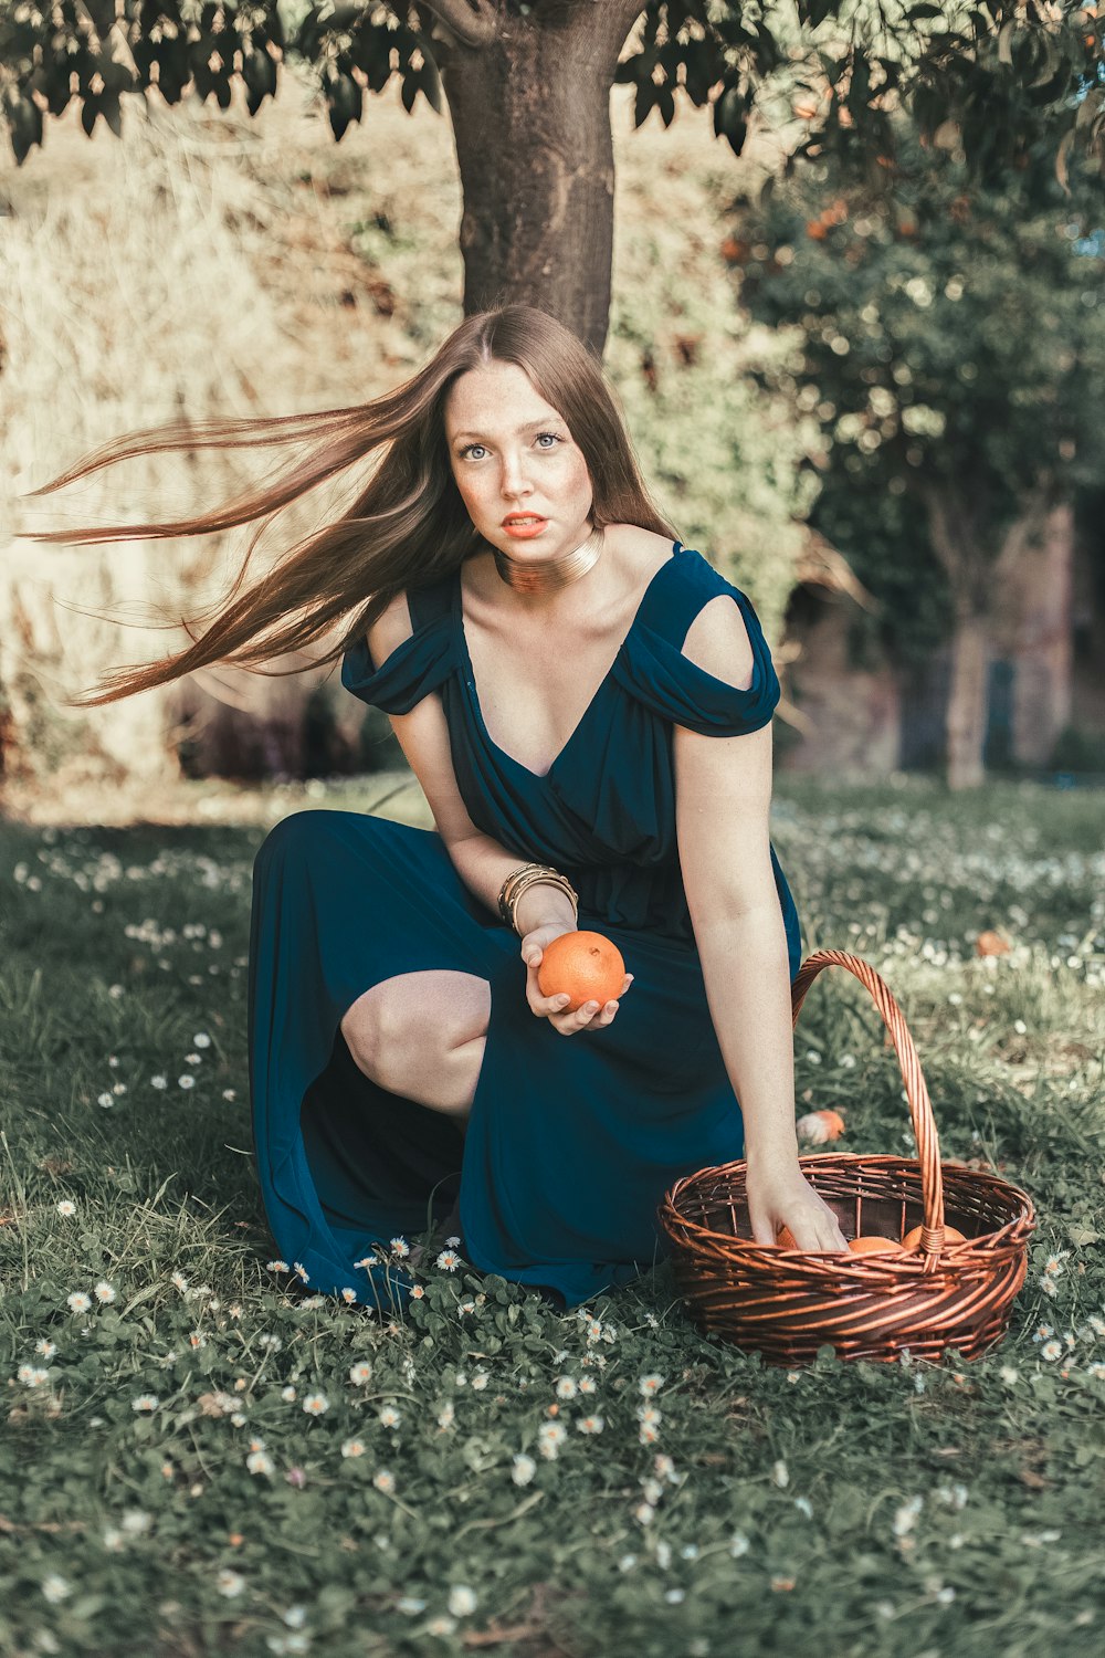
[[[403,1323],[290,1298],[247,1121],[263,827],[0,826],[0,1651],[1098,1653],[1100,819],[780,783],[810,947],[885,973],[944,1156],[1039,1212],[991,1355],[802,1371],[699,1336],[666,1265],[565,1316],[464,1262]],[[803,1109],[905,1151],[852,978],[795,1051]]]

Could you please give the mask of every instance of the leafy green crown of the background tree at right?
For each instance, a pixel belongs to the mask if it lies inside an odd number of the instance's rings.
[[[1105,214],[1044,154],[971,181],[954,134],[901,123],[886,202],[818,162],[747,204],[729,254],[741,302],[797,325],[797,406],[832,464],[891,496],[949,491],[979,547],[1025,496],[1069,496],[1105,463]]]

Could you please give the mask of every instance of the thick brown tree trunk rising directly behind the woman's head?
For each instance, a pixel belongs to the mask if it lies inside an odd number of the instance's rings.
[[[464,310],[522,302],[601,356],[615,162],[610,88],[639,0],[499,12],[451,41],[442,86],[464,191]]]

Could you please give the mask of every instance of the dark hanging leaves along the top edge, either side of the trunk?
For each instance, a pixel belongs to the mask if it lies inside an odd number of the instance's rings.
[[[399,76],[403,101],[442,108],[441,71],[509,28],[586,27],[581,0],[17,0],[0,8],[0,113],[17,161],[43,141],[45,116],[71,99],[84,131],[121,131],[126,93],[156,86],[227,108],[235,81],[250,114],[293,55],[318,75],[335,138],[364,99]],[[628,13],[631,15],[631,13]],[[711,104],[714,131],[741,154],[772,96],[799,121],[792,154],[866,167],[893,156],[893,114],[918,129],[956,121],[969,169],[994,176],[1047,141],[1062,176],[1072,148],[1105,151],[1102,23],[1083,0],[649,0],[618,80],[636,86],[638,124],[676,113],[676,88]],[[1077,104],[1075,104],[1075,99]]]

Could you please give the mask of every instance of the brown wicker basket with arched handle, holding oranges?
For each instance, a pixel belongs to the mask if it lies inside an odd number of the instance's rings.
[[[792,987],[797,1023],[825,967],[847,967],[866,985],[901,1064],[918,1157],[802,1157],[802,1172],[837,1215],[845,1237],[903,1237],[921,1224],[921,1248],[901,1255],[830,1255],[752,1242],[744,1162],[701,1169],[671,1187],[659,1224],[671,1244],[676,1285],[692,1321],[774,1365],[802,1365],[830,1345],[840,1358],[939,1358],[956,1348],[977,1358],[1009,1325],[1024,1283],[1030,1199],[959,1166],[941,1167],[936,1121],[913,1038],[886,983],[843,950],[818,950]],[[966,1234],[943,1244],[944,1220]]]

